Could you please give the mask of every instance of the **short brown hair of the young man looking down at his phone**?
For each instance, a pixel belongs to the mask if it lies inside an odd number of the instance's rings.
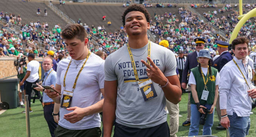
[[[87,38],[87,33],[85,28],[80,24],[67,24],[61,32],[61,37],[63,39],[73,39],[76,37],[84,41],[84,39]]]

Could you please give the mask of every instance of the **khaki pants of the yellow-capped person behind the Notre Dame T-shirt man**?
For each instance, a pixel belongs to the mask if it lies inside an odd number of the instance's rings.
[[[170,137],[177,137],[176,133],[179,129],[179,104],[173,104],[166,99],[166,108],[170,115]]]

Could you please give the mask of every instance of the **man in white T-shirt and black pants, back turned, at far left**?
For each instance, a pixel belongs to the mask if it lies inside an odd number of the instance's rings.
[[[28,55],[28,65],[27,65],[27,72],[25,77],[22,79],[20,82],[20,86],[24,84],[26,81],[26,95],[28,95],[28,101],[29,101],[29,112],[33,112],[31,109],[31,92],[32,92],[32,84],[36,84],[39,82],[39,75],[38,75],[38,70],[39,70],[39,62],[35,60],[35,55],[30,53]],[[41,97],[40,92],[35,91],[38,97]],[[22,113],[26,113],[26,111],[22,111]]]

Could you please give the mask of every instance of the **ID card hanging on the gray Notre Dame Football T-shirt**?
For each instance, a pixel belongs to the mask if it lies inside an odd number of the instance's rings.
[[[138,85],[145,101],[157,97],[156,90],[151,79],[138,82]]]

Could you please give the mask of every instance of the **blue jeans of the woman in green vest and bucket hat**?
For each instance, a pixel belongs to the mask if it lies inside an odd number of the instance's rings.
[[[204,105],[209,110],[211,109],[211,104]],[[190,127],[189,127],[189,136],[198,135],[199,131],[199,121],[201,117],[201,113],[197,110],[197,106],[195,104],[191,104],[191,116],[190,116]],[[213,126],[213,116],[214,110],[212,114],[207,114],[205,124],[203,127],[203,135],[211,135],[211,127]]]

